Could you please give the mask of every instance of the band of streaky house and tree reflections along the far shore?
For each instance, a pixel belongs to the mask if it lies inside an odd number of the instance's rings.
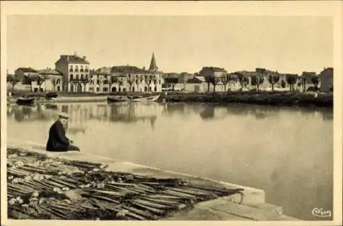
[[[71,122],[75,127],[84,126],[87,120],[108,122],[134,123],[149,122],[154,128],[158,117],[179,115],[199,115],[202,120],[219,120],[228,115],[254,116],[256,120],[265,120],[267,117],[277,116],[279,113],[298,113],[301,115],[322,115],[322,120],[332,121],[331,109],[311,109],[277,106],[249,106],[230,104],[228,106],[215,106],[214,104],[140,104],[140,103],[113,103],[113,104],[56,104],[54,106],[37,104],[36,106],[8,105],[7,114],[17,122],[28,120],[49,121],[57,117],[62,111],[71,115]],[[76,130],[78,131],[78,130]],[[82,130],[81,130],[82,131]]]

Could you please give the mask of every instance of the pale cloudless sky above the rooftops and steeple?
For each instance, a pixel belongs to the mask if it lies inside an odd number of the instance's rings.
[[[283,73],[333,67],[333,21],[320,16],[8,16],[7,60],[54,68],[62,54],[91,68],[150,66],[164,72],[229,72],[265,67]]]

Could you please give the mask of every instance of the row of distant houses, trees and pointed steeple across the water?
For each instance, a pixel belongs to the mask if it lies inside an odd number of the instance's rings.
[[[8,81],[11,80],[8,76]],[[60,55],[55,69],[19,67],[8,87],[31,91],[64,91],[69,93],[121,93],[186,91],[195,93],[237,90],[275,91],[332,91],[333,68],[324,68],[320,74],[304,71],[303,74],[279,73],[257,67],[255,71],[228,72],[222,67],[202,67],[190,74],[163,73],[158,70],[154,53],[149,69],[130,65],[91,69],[86,56]],[[18,81],[16,81],[18,80]],[[14,84],[14,86],[13,86]],[[319,88],[320,87],[320,88]]]

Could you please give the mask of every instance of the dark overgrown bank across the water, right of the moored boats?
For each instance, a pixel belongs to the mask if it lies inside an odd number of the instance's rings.
[[[332,93],[295,92],[229,92],[229,93],[184,93],[164,96],[166,102],[217,102],[276,106],[321,106],[333,107]]]

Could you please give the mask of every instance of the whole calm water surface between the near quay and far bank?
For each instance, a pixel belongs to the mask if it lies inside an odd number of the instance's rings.
[[[8,136],[45,144],[58,111],[82,152],[265,190],[304,220],[332,210],[333,112],[209,104],[8,106]],[[324,218],[324,220],[330,220]]]

